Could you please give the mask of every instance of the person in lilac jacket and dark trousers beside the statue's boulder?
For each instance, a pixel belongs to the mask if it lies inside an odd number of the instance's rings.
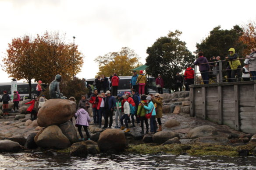
[[[85,129],[87,139],[90,140],[90,133],[88,131],[88,126],[89,126],[89,122],[91,122],[91,119],[89,117],[88,112],[85,110],[84,105],[82,105],[80,109],[75,113],[75,117],[76,117],[75,125],[77,126],[79,135],[81,137],[79,140],[85,140],[82,134],[82,127]]]

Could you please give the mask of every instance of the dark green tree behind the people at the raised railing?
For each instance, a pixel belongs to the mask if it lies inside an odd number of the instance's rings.
[[[208,61],[211,56],[220,56],[221,59],[224,59],[228,56],[228,49],[230,48],[235,48],[235,52],[241,56],[245,48],[245,44],[239,40],[242,34],[243,30],[238,25],[230,30],[223,30],[220,29],[220,26],[217,26],[210,31],[210,35],[203,39],[200,44],[196,43],[196,51],[202,51]]]

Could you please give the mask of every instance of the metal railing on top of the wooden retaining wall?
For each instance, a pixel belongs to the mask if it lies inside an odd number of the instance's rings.
[[[249,57],[249,58],[256,58],[256,57]],[[233,59],[234,60],[244,60],[244,59],[249,59],[249,58],[240,58],[240,59]],[[233,70],[233,77],[232,77],[232,69],[230,66],[224,67],[224,63],[229,62],[229,60],[219,60],[219,61],[214,61],[214,62],[205,62],[205,63],[200,63],[198,65],[195,66],[195,80],[194,83],[195,84],[202,84],[202,83],[222,83],[222,82],[235,82],[235,81],[241,81],[243,80],[242,77],[242,66],[243,63],[241,63],[241,67],[234,69]],[[214,63],[214,65],[210,65],[211,63]],[[208,81],[207,80],[203,80],[202,74],[201,72],[198,70],[197,66],[199,65],[203,65],[203,64],[209,64],[210,65],[210,71],[206,71],[203,72],[203,74],[207,73],[208,75]],[[224,69],[225,68],[225,69]],[[250,66],[247,68],[247,70],[249,71],[249,68],[254,68],[252,66]],[[199,74],[201,74],[201,79],[199,79]],[[256,76],[251,76],[249,77],[249,80],[251,80],[251,78],[256,78]],[[245,81],[245,80],[243,80]],[[248,81],[248,80],[247,80]]]

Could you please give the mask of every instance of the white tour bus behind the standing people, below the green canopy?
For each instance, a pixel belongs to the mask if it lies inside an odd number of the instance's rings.
[[[109,78],[109,77],[107,77]],[[124,92],[131,92],[132,86],[130,86],[132,76],[119,76],[119,85],[117,89],[118,94],[124,94]],[[87,79],[87,84],[91,84],[92,90],[95,88],[93,86],[95,78]],[[158,93],[158,90],[156,88],[156,80],[154,77],[147,76],[147,85],[146,85],[146,94],[155,94]],[[163,89],[164,93],[168,93],[168,89]]]

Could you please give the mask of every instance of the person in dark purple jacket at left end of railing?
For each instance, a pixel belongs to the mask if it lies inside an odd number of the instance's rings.
[[[208,72],[210,70],[210,65],[209,65],[206,57],[203,56],[203,52],[199,52],[198,56],[199,57],[198,57],[198,59],[196,59],[196,62],[194,63],[194,65],[199,65],[199,71],[201,73],[203,83],[209,84]]]

